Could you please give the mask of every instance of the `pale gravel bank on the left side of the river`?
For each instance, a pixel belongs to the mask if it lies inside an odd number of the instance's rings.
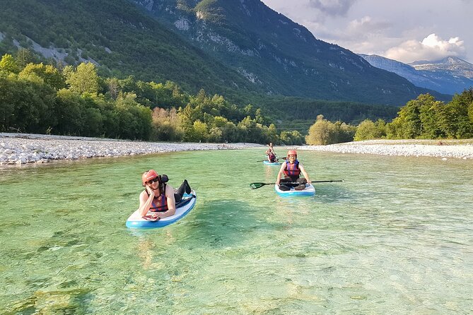
[[[254,143],[151,143],[104,138],[0,133],[0,165],[45,163],[189,150],[226,150],[262,147]]]

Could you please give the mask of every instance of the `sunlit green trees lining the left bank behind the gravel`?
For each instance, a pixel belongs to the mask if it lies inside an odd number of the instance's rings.
[[[279,131],[261,109],[221,95],[185,93],[154,83],[98,76],[94,64],[57,69],[28,62],[28,51],[0,60],[0,131],[151,141],[301,144]]]

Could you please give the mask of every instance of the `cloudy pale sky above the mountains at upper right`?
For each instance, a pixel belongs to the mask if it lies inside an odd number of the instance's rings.
[[[473,64],[473,0],[262,0],[325,42],[405,63]]]

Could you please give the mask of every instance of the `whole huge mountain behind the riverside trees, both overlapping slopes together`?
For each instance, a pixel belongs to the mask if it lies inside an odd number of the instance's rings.
[[[230,100],[400,106],[429,92],[317,40],[259,0],[2,1],[0,33],[0,54],[25,47],[67,64],[94,62],[101,75],[170,80]]]

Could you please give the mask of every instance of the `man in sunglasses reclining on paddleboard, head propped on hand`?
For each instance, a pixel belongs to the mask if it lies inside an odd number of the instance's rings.
[[[145,187],[139,195],[139,213],[142,218],[159,220],[174,215],[176,203],[181,201],[184,194],[191,192],[186,179],[177,191],[166,182],[168,177],[158,175],[155,170],[148,170],[141,175],[141,184]],[[148,215],[148,211],[156,213]]]

